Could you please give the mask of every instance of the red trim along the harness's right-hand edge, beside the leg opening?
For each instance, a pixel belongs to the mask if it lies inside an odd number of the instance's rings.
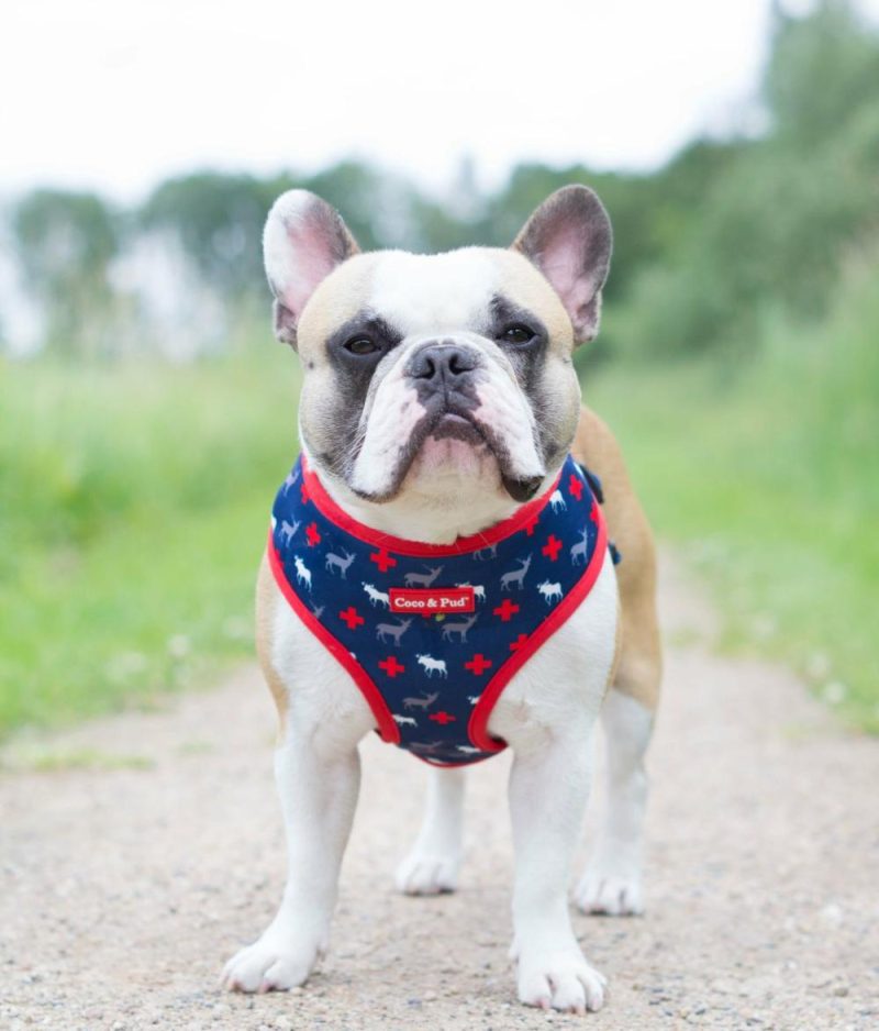
[[[598,579],[604,558],[608,554],[608,526],[604,522],[604,513],[598,506],[598,501],[592,502],[592,518],[598,523],[598,537],[596,539],[596,550],[592,553],[592,559],[587,566],[583,575],[574,585],[570,592],[559,601],[550,614],[537,627],[534,633],[522,642],[513,652],[510,658],[501,666],[494,676],[486,685],[479,701],[474,706],[470,713],[470,721],[467,724],[467,734],[470,741],[478,749],[486,752],[502,752],[507,743],[492,738],[488,732],[488,720],[496,702],[501,697],[504,687],[509,684],[513,674],[527,662],[537,648],[550,638],[559,627],[577,610],[577,607],[592,589],[592,585]]]

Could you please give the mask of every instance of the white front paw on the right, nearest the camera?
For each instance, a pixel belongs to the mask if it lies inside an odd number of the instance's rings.
[[[604,1005],[608,982],[587,962],[579,946],[523,949],[516,968],[519,1000],[525,1006],[566,1013],[596,1012]]]

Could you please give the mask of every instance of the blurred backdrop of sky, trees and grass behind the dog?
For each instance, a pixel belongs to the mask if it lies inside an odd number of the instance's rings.
[[[879,2],[329,7],[5,10],[0,735],[252,655],[279,192],[431,252],[566,182],[615,229],[585,395],[661,541],[726,646],[879,731]]]

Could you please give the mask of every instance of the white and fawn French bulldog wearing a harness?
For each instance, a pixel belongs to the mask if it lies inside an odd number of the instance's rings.
[[[301,985],[326,949],[358,790],[357,742],[378,729],[434,767],[425,827],[397,872],[398,888],[413,895],[457,886],[464,771],[450,756],[512,749],[519,999],[576,1013],[601,1008],[605,980],[586,960],[567,905],[591,741],[602,722],[607,814],[574,898],[585,912],[641,913],[644,755],[661,668],[652,533],[613,435],[581,407],[572,363],[575,346],[598,332],[611,246],[608,214],[585,186],[553,193],[509,250],[431,256],[360,253],[341,215],[307,191],[275,202],[264,235],[275,333],[303,369],[302,456],[276,506],[300,506],[308,522],[292,541],[269,539],[257,651],[280,717],[275,768],[291,847],[278,912],[226,964],[226,987]],[[600,478],[602,506],[577,463]],[[334,590],[351,591],[338,598],[321,594],[327,534],[360,548],[356,575],[333,577]],[[303,555],[318,561],[307,566]],[[407,569],[421,587],[405,587]],[[542,600],[538,583],[549,574],[552,597]],[[488,628],[478,651],[472,641],[444,642],[442,619],[429,611],[468,577],[486,585],[468,631],[480,642]],[[516,590],[501,592],[511,584]],[[367,633],[369,619],[394,611],[400,588],[410,610],[424,608],[403,639],[412,636],[408,652]],[[471,590],[446,591],[448,603],[477,611]],[[536,622],[511,638],[522,619]],[[386,650],[374,655],[348,640]],[[377,668],[387,674],[383,700],[371,694]],[[430,696],[419,694],[437,669],[441,689],[434,679]],[[401,694],[391,681],[404,681]],[[475,714],[470,724],[446,711],[452,695]],[[412,722],[426,730],[392,718],[404,697],[410,708],[418,701],[425,716]]]

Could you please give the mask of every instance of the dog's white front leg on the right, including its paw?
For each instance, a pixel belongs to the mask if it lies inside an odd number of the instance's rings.
[[[592,717],[583,714],[516,752],[510,775],[519,998],[583,1013],[604,1000],[604,978],[586,962],[568,913],[567,886],[591,778]],[[511,742],[513,744],[513,742]]]

